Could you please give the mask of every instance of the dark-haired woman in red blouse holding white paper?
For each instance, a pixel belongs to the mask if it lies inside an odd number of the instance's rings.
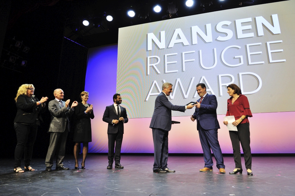
[[[242,95],[241,89],[235,84],[230,84],[228,87],[228,94],[231,98],[228,99],[228,111],[226,116],[235,116],[235,121],[232,123],[238,129],[238,131],[229,131],[231,137],[231,144],[234,153],[235,169],[230,174],[242,173],[241,163],[241,151],[240,143],[244,152],[245,166],[248,175],[253,175],[252,156],[250,148],[250,130],[248,117],[252,117],[248,99],[245,95]],[[228,125],[228,121],[223,122],[224,125]]]

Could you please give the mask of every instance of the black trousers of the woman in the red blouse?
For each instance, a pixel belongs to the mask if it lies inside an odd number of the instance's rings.
[[[249,123],[242,123],[237,126],[238,131],[229,131],[231,144],[234,153],[235,167],[242,168],[240,143],[244,152],[246,169],[252,168],[252,155],[250,148]]]

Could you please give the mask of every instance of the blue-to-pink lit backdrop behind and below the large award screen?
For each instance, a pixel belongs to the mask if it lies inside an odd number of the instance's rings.
[[[95,118],[91,120],[90,153],[106,153],[108,151],[107,123],[102,121],[102,117],[105,107],[113,104],[112,96],[115,93],[120,93],[116,92],[116,85],[119,85],[116,84],[117,52],[118,45],[89,49],[85,90],[89,92],[88,102],[93,104],[95,115]],[[146,93],[146,90],[143,87],[136,93]],[[125,107],[124,95],[121,94],[121,96],[122,106]],[[128,114],[128,108],[126,110]],[[193,113],[192,109],[191,114]],[[218,130],[218,140],[222,153],[232,153],[229,133],[222,123],[223,116],[225,115],[217,116],[221,128]],[[293,119],[295,119],[294,111],[253,114],[253,117],[249,118],[251,152],[295,153]],[[172,117],[172,120],[181,123],[172,125],[169,132],[169,153],[203,153],[196,122],[192,122],[189,116]],[[150,122],[151,118],[129,119],[129,122],[124,125],[122,153],[154,152],[152,132],[149,128]]]

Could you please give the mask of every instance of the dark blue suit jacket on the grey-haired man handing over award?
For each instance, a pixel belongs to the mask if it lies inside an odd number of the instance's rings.
[[[155,100],[155,109],[151,118],[150,128],[170,131],[172,124],[171,110],[184,112],[185,106],[173,105],[164,92],[161,92]]]

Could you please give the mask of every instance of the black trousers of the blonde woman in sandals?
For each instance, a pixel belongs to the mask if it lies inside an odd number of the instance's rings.
[[[36,140],[38,125],[24,125],[14,123],[17,144],[14,151],[14,168],[20,167],[21,158],[24,154],[25,167],[30,165],[33,146]]]

